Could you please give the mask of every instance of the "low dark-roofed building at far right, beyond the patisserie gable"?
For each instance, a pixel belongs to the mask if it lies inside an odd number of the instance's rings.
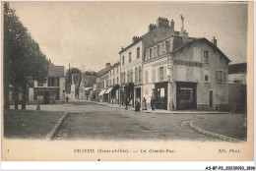
[[[247,63],[228,65],[228,83],[246,85]]]

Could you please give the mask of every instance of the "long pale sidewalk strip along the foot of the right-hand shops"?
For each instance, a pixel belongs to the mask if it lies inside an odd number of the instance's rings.
[[[88,101],[88,100],[84,100],[87,102],[92,102],[92,103],[96,103],[96,104],[101,104],[101,105],[105,105],[108,107],[114,107],[114,108],[123,108],[125,109],[125,106],[119,106],[119,104],[111,104],[111,103],[107,103],[107,102],[96,102],[96,101]],[[129,106],[128,110],[135,110],[134,107]],[[152,110],[151,108],[147,108],[147,110],[142,110],[140,112],[144,112],[144,113],[161,113],[161,114],[230,114],[230,112],[220,112],[220,111],[195,111],[195,110],[181,110],[181,111],[167,111],[167,110],[160,110],[160,109],[156,109],[156,110]]]

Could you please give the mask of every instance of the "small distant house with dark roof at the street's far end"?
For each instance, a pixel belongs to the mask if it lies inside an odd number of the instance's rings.
[[[87,76],[85,73],[81,74],[81,82],[79,85],[79,99],[93,100],[94,84],[96,83],[96,76]]]

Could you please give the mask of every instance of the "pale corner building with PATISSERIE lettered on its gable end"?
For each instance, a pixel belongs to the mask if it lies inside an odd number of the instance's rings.
[[[183,29],[146,49],[143,96],[167,110],[226,110],[227,65],[217,39],[191,38]],[[151,76],[151,77],[149,77]]]

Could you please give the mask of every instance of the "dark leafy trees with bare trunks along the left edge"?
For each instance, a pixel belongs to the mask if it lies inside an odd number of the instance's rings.
[[[15,109],[18,109],[19,87],[23,87],[22,108],[26,109],[29,80],[45,81],[47,59],[28,29],[8,2],[4,3],[4,109],[9,109],[9,85],[14,86]]]

